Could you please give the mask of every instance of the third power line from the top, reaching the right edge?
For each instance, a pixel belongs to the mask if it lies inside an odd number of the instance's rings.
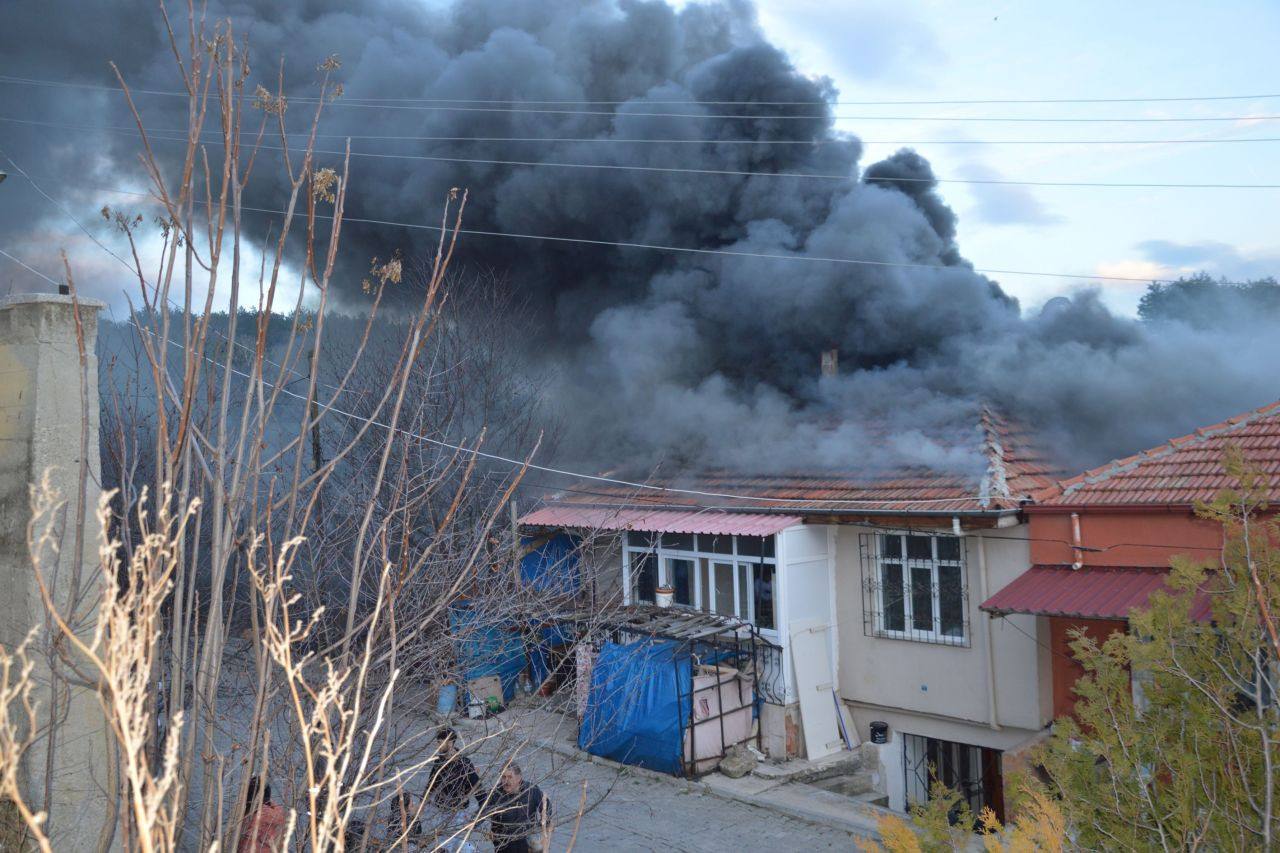
[[[54,127],[69,131],[108,131],[111,133],[138,134],[137,126],[90,126],[67,124],[60,122],[40,122],[36,119],[19,119],[0,115],[0,122],[13,124],[33,124],[38,127]],[[301,132],[301,131],[300,131]],[[177,134],[187,138],[187,131],[182,128],[147,129],[147,134]],[[205,131],[211,138],[221,138],[216,131]],[[242,137],[256,136],[252,131],[241,131]],[[321,140],[375,140],[375,141],[402,141],[402,142],[548,142],[548,143],[608,143],[608,145],[842,145],[847,142],[860,142],[863,145],[1220,145],[1236,142],[1280,142],[1280,137],[1251,136],[1251,137],[1199,137],[1176,140],[869,140],[863,136],[827,140],[708,140],[708,138],[673,138],[673,137],[599,137],[599,136],[412,136],[412,134],[378,134],[378,133],[316,133]]]

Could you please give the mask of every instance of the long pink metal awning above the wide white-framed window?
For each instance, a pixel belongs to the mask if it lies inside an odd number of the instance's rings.
[[[540,510],[521,516],[520,523],[545,528],[771,537],[791,525],[800,524],[800,517],[765,512],[721,512],[717,510],[623,510],[588,506],[544,506]]]

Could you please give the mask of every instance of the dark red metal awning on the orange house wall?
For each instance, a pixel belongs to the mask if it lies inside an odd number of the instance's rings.
[[[1032,566],[1012,583],[982,602],[991,613],[1036,613],[1080,619],[1128,619],[1130,610],[1147,606],[1151,594],[1167,590],[1169,569],[1156,566]],[[1208,596],[1201,593],[1192,619],[1210,619]]]

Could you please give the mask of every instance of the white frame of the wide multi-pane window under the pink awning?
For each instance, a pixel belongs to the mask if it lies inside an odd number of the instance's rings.
[[[632,544],[631,537],[645,537],[645,535],[655,538],[657,542],[658,542],[658,546],[657,547],[641,547],[641,546]],[[687,534],[687,535],[694,535],[694,534]],[[710,537],[708,537],[708,538],[710,538]],[[714,599],[716,599],[714,565],[716,564],[723,564],[723,565],[730,566],[730,571],[732,571],[732,575],[733,575],[733,593],[732,593],[733,594],[733,602],[732,602],[731,612],[728,612],[728,613],[718,613],[718,615],[721,615],[721,616],[730,616],[730,617],[733,617],[733,619],[740,619],[740,620],[742,620],[745,622],[750,622],[751,625],[755,625],[756,624],[756,621],[755,621],[756,613],[755,613],[754,570],[760,564],[764,564],[767,566],[772,566],[773,567],[773,590],[774,590],[774,597],[773,597],[773,624],[774,624],[774,628],[762,628],[760,630],[762,631],[774,631],[774,630],[777,630],[776,626],[777,626],[778,619],[780,619],[780,615],[778,615],[778,601],[777,601],[777,584],[778,584],[778,561],[777,561],[778,543],[777,543],[777,537],[776,535],[773,537],[773,539],[774,539],[774,543],[773,543],[773,553],[774,553],[774,556],[772,556],[772,557],[755,557],[755,556],[750,556],[750,555],[741,555],[741,553],[739,553],[739,537],[737,535],[726,535],[726,537],[717,537],[717,538],[728,538],[732,542],[731,551],[719,552],[719,551],[701,551],[701,549],[698,549],[696,548],[696,546],[699,544],[698,539],[694,540],[694,544],[695,544],[694,549],[664,548],[660,544],[662,539],[660,539],[660,534],[658,534],[658,533],[652,533],[650,534],[650,533],[646,533],[646,532],[643,532],[643,530],[634,530],[634,532],[631,532],[627,535],[627,538],[623,539],[623,546],[622,546],[622,555],[623,555],[622,556],[622,571],[623,571],[623,589],[625,589],[625,601],[626,601],[626,603],[628,603],[628,605],[636,603],[636,597],[635,597],[635,593],[636,593],[636,590],[635,590],[635,579],[631,575],[631,565],[632,565],[631,561],[634,558],[636,558],[636,557],[643,557],[643,556],[646,556],[646,555],[653,555],[654,558],[657,560],[657,562],[658,562],[658,566],[657,566],[657,569],[658,569],[658,580],[657,580],[657,583],[658,583],[659,587],[664,587],[664,585],[666,587],[671,587],[671,585],[673,585],[673,583],[672,583],[673,578],[671,576],[671,569],[669,569],[669,561],[671,560],[689,560],[689,561],[691,561],[692,562],[692,570],[691,570],[691,575],[692,576],[689,579],[689,587],[690,587],[690,598],[692,601],[689,605],[682,605],[681,603],[681,605],[677,605],[677,606],[678,607],[689,607],[691,610],[699,610],[699,611],[704,611],[704,612],[717,613],[718,611],[714,607]],[[755,539],[755,538],[762,538],[762,537],[751,537],[751,538]],[[768,537],[763,537],[763,538],[768,538]],[[708,585],[710,587],[710,589],[703,589],[703,573],[701,573],[701,567],[703,567],[704,564],[707,566]],[[744,579],[744,576],[746,578],[746,583],[748,583],[748,589],[745,590],[745,593],[746,593],[746,612],[745,613],[739,612],[741,610],[739,607],[739,605],[742,602],[742,594],[744,594],[744,590],[742,590],[742,579]]]

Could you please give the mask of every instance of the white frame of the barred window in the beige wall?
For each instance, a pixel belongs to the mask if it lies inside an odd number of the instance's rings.
[[[905,639],[915,640],[920,643],[936,643],[942,646],[968,646],[969,644],[969,597],[966,594],[968,584],[965,578],[965,565],[964,565],[964,538],[957,537],[942,537],[933,533],[920,533],[920,532],[877,532],[874,534],[878,539],[876,543],[876,596],[874,606],[876,612],[873,615],[874,628],[877,637],[888,637],[892,639]],[[909,557],[906,552],[908,538],[927,538],[929,540],[931,557],[924,560],[923,557]],[[891,557],[886,555],[884,540],[890,538],[899,539],[900,555]],[[938,542],[941,539],[957,539],[957,546],[960,549],[959,557],[955,560],[942,560],[938,557]],[[902,573],[902,630],[887,628],[887,613],[888,613],[888,598],[890,584],[886,580],[886,569],[888,565],[896,565],[901,567]],[[960,634],[945,634],[942,631],[942,584],[938,579],[938,567],[947,566],[955,567],[960,573],[960,587],[959,587],[959,607],[960,607]],[[913,569],[928,569],[929,570],[929,625],[928,630],[915,628],[915,601],[911,594]]]

